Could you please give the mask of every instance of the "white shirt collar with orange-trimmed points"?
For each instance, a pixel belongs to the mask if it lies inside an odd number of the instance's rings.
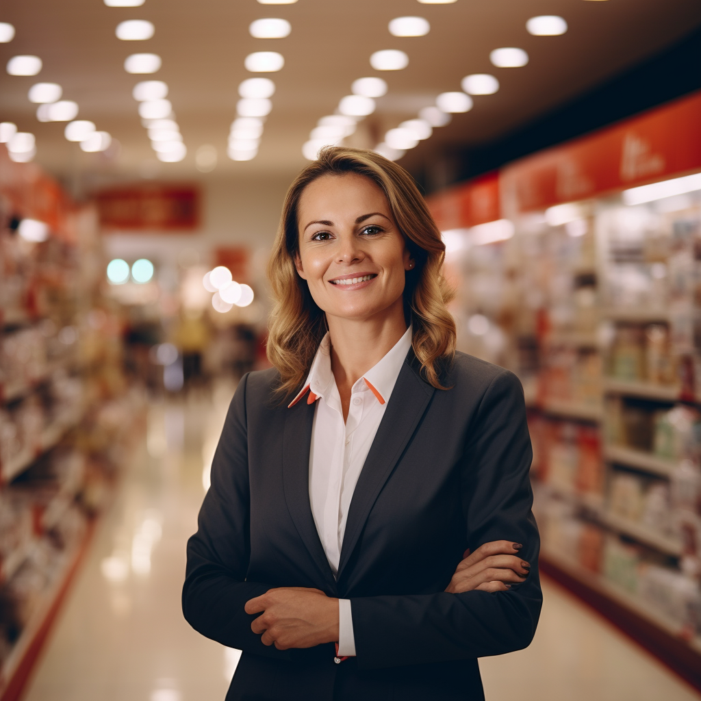
[[[409,353],[409,348],[411,348],[411,326],[382,360],[370,368],[358,381],[365,382],[367,388],[375,395],[380,404],[388,402],[397,383],[404,359]],[[297,404],[307,392],[309,392],[307,404],[313,404],[320,396],[327,394],[329,385],[333,382],[335,380],[331,372],[331,336],[327,332],[319,344],[303,388],[288,404],[287,408],[294,407],[294,404]]]

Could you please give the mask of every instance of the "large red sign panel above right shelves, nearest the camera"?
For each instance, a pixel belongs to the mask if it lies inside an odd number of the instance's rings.
[[[506,166],[508,215],[701,169],[701,93]]]

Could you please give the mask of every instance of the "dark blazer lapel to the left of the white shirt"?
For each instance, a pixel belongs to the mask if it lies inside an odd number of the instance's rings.
[[[286,409],[283,435],[283,488],[285,502],[299,537],[331,590],[336,580],[326,558],[309,503],[309,453],[314,405],[299,402]]]

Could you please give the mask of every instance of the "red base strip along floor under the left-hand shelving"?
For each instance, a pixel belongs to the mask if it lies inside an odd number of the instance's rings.
[[[64,566],[53,583],[41,597],[29,622],[22,630],[0,668],[0,700],[14,700],[20,697],[29,672],[34,665],[43,641],[46,639],[53,620],[68,590],[74,573],[78,569],[83,553],[93,535],[94,523],[88,522],[88,529],[81,542],[64,558]]]

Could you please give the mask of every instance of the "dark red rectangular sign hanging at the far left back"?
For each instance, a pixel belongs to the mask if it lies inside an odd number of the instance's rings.
[[[117,187],[97,195],[102,229],[191,231],[199,225],[200,193],[191,185]]]

